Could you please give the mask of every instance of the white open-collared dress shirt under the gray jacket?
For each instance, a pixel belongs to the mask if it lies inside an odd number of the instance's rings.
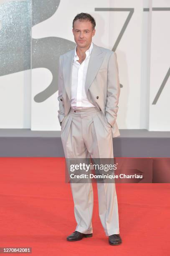
[[[91,51],[93,49],[93,43],[91,42],[89,49],[86,51],[86,59],[84,59],[81,64],[78,62],[79,56],[76,53],[76,47],[71,78],[71,108],[82,109],[95,107],[91,102],[89,102],[85,92],[86,74]]]

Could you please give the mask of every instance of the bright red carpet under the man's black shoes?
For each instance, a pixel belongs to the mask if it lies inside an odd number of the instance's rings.
[[[0,247],[32,247],[35,256],[170,255],[170,184],[116,184],[119,246],[108,243],[93,187],[94,236],[68,242],[76,222],[64,158],[0,158]]]

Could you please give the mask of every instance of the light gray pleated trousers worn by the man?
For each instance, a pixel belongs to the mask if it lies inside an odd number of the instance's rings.
[[[96,107],[70,109],[61,123],[61,141],[66,158],[113,158],[112,130]],[[97,183],[99,217],[106,236],[119,234],[119,214],[115,183]],[[71,183],[76,231],[93,232],[93,187],[91,183]]]

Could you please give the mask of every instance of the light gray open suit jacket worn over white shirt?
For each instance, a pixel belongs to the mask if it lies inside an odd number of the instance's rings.
[[[61,122],[71,108],[71,74],[74,49],[60,56],[58,69],[58,120]],[[112,137],[120,136],[116,123],[120,94],[117,54],[93,43],[87,69],[86,95],[112,126]]]

